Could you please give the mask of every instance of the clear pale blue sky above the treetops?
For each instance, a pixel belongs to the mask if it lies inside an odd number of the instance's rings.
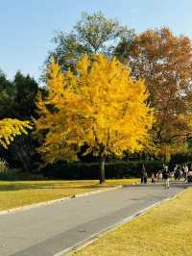
[[[136,32],[168,26],[192,38],[191,0],[0,0],[0,68],[11,79],[18,69],[38,79],[55,31],[98,11]]]

